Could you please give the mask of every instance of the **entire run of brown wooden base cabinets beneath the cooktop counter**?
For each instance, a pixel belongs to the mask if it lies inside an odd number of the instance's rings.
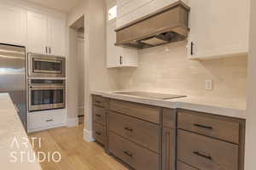
[[[243,170],[245,120],[93,95],[93,134],[135,170]]]

